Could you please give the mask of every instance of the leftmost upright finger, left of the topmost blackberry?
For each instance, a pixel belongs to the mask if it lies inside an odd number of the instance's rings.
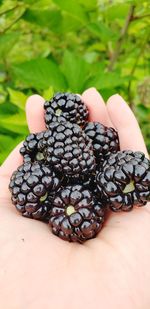
[[[40,132],[46,129],[44,121],[44,98],[34,94],[28,98],[26,103],[26,117],[31,133]]]

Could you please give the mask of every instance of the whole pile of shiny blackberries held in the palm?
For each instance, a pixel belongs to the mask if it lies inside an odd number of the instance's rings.
[[[120,151],[117,131],[89,122],[80,96],[57,93],[44,109],[47,129],[26,138],[23,164],[9,184],[24,217],[83,243],[99,233],[109,210],[150,201],[150,161],[141,152]]]

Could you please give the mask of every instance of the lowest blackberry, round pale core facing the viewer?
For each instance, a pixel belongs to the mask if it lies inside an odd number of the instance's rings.
[[[60,238],[80,243],[102,228],[105,208],[84,186],[66,186],[53,201],[49,224]]]

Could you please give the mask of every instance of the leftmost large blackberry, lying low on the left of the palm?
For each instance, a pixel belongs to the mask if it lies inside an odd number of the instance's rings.
[[[24,163],[11,177],[12,202],[24,217],[47,221],[61,179],[48,166]]]

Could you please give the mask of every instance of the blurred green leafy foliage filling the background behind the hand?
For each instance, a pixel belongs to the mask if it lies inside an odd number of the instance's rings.
[[[91,86],[123,95],[150,151],[149,29],[145,0],[0,1],[0,162],[28,133],[27,96]]]

